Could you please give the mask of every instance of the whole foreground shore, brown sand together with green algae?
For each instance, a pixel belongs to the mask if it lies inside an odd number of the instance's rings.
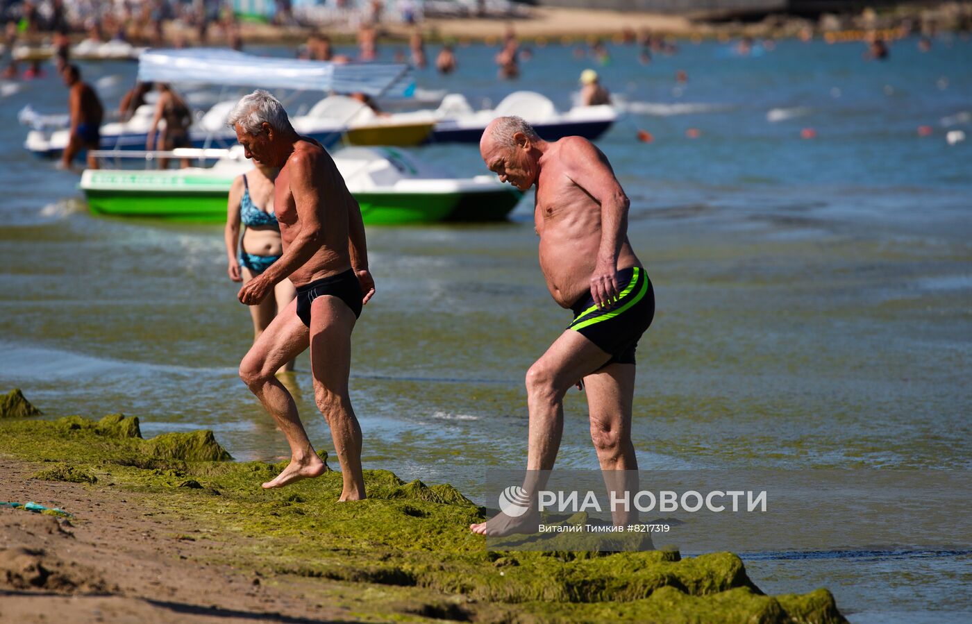
[[[369,498],[336,503],[329,471],[262,491],[283,465],[231,461],[212,433],[12,416],[21,399],[0,401],[5,496],[73,515],[0,508],[0,617],[846,621],[824,589],[763,595],[731,553],[488,551],[449,485],[365,470]]]

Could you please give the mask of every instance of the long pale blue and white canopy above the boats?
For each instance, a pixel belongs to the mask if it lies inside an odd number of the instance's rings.
[[[206,83],[229,87],[408,94],[408,66],[393,63],[330,63],[256,56],[233,50],[149,50],[138,57],[138,80]]]

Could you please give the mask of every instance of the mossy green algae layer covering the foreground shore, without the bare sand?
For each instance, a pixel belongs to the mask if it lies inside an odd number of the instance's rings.
[[[214,563],[281,582],[289,574],[330,579],[348,584],[348,596],[365,587],[385,588],[394,600],[374,607],[386,609],[385,615],[846,621],[825,589],[763,595],[746,576],[743,561],[727,552],[682,559],[671,550],[489,551],[483,537],[469,533],[469,524],[483,519],[483,509],[452,486],[405,483],[388,470],[365,470],[369,498],[355,503],[337,503],[341,477],[333,471],[282,490],[262,490],[260,482],[284,463],[226,461],[228,453],[211,432],[144,440],[137,419],[119,414],[100,421],[17,420],[0,425],[0,449],[24,461],[57,463],[38,478],[77,475],[86,481],[80,476],[86,475],[98,484],[87,487],[146,494],[154,512],[178,513],[228,544],[231,556]]]

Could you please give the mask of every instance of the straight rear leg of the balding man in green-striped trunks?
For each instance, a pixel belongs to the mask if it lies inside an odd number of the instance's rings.
[[[631,441],[631,407],[635,398],[635,364],[608,364],[584,377],[584,392],[591,414],[591,439],[598,452],[605,486],[615,498],[638,491],[638,459]],[[615,526],[638,522],[630,505],[611,510]]]

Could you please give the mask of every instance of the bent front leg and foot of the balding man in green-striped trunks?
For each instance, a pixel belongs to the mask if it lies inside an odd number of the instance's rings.
[[[527,449],[527,479],[523,488],[534,496],[546,484],[553,468],[564,432],[564,395],[591,371],[604,365],[610,356],[580,333],[568,329],[527,371],[527,404],[530,409],[530,435]],[[537,531],[538,511],[518,518],[500,513],[488,522],[470,525],[473,533],[505,536],[521,529]]]

